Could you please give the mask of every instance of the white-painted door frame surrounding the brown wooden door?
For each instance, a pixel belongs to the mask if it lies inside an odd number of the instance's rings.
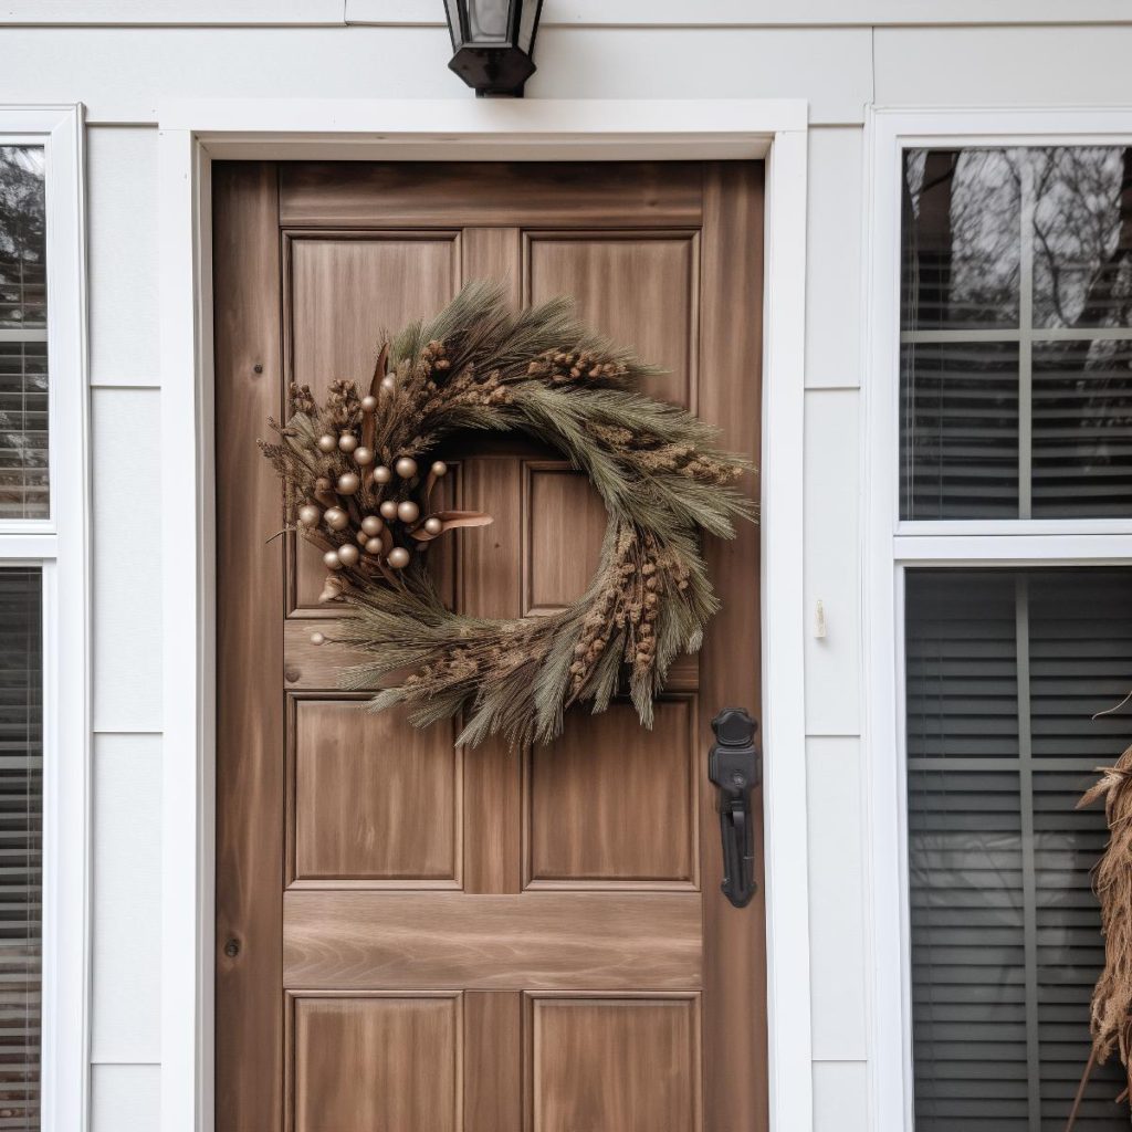
[[[160,108],[161,1132],[213,1126],[214,160],[765,160],[762,653],[770,1125],[813,1123],[803,594],[804,100],[216,100]],[[174,521],[174,516],[178,516]],[[752,1004],[758,1009],[757,1004]],[[756,1071],[756,1066],[752,1066]]]

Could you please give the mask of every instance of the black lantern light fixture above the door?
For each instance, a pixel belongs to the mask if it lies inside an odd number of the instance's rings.
[[[452,68],[477,95],[523,96],[542,0],[445,0]]]

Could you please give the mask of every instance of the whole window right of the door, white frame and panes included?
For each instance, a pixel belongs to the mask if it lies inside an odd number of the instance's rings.
[[[878,1127],[1053,1132],[1132,743],[1132,115],[874,114]],[[1115,1062],[1078,1132],[1127,1126]]]

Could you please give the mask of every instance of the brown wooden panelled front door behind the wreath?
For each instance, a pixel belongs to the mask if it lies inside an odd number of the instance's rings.
[[[549,748],[457,751],[338,689],[317,556],[268,541],[255,446],[291,380],[367,379],[383,328],[498,276],[515,303],[574,294],[757,460],[762,186],[756,163],[214,166],[218,1132],[765,1129],[764,909],[720,892],[706,775],[715,712],[758,711],[757,531],[706,548],[723,611],[652,731],[617,703]],[[446,548],[452,600],[580,594],[586,479],[506,437],[444,455],[452,503],[495,516]]]

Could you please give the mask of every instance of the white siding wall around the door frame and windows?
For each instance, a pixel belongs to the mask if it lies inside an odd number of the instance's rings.
[[[3,34],[0,101],[80,101],[92,122],[94,1132],[151,1132],[160,1104],[158,535],[162,522],[186,517],[158,506],[157,106],[186,95],[458,96],[438,10],[439,0],[12,0],[0,14],[15,25]],[[806,751],[767,757],[805,757],[809,778],[815,1127],[858,1132],[869,1127],[871,968],[859,684],[864,110],[1129,101],[1132,27],[1037,26],[1062,11],[1082,24],[1117,19],[1124,5],[1113,0],[1004,0],[996,27],[915,26],[979,18],[980,5],[951,0],[650,10],[668,26],[644,26],[641,6],[625,0],[548,0],[528,96],[792,95],[812,106],[805,589],[811,618],[824,606],[826,636],[807,625]],[[676,26],[689,10],[705,26]],[[140,26],[190,11],[197,24],[247,26]],[[346,27],[344,16],[370,26]],[[904,26],[869,26],[893,18]],[[68,26],[122,19],[138,26]],[[57,26],[25,26],[37,20]],[[1017,20],[1029,23],[1009,26]]]

